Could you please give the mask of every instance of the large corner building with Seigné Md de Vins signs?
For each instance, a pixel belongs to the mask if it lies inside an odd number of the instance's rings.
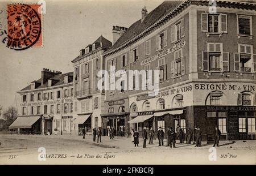
[[[208,1],[166,1],[148,14],[143,8],[142,18],[115,38],[104,53],[106,69],[145,70],[146,87],[154,83],[148,71],[159,70],[159,92],[106,91],[108,126],[125,126],[127,134],[199,126],[203,140],[212,140],[218,126],[221,139],[255,139],[255,3],[215,2],[217,8]],[[117,79],[110,74],[110,84]],[[142,82],[134,80],[133,88]]]

